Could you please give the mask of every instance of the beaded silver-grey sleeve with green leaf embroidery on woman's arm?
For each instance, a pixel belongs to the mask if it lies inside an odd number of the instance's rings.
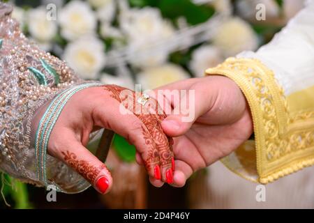
[[[31,123],[39,107],[60,91],[82,84],[64,61],[40,50],[0,3],[0,170],[27,183],[43,186],[36,175]],[[89,186],[84,178],[48,155],[47,174],[66,192]]]

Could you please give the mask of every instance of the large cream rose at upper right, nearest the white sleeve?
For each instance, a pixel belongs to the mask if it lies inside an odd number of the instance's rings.
[[[247,22],[234,17],[218,27],[214,33],[213,44],[221,49],[225,56],[234,56],[244,50],[255,50],[258,39]]]

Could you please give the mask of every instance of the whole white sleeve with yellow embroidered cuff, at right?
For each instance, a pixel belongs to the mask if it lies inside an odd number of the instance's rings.
[[[254,141],[223,163],[248,180],[269,183],[314,164],[314,1],[268,45],[227,59],[207,75],[225,75],[251,108]]]

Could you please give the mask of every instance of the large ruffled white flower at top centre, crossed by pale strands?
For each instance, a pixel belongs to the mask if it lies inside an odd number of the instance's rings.
[[[128,38],[130,52],[137,56],[131,58],[135,66],[158,66],[167,60],[167,48],[151,52],[151,46],[158,41],[166,41],[174,36],[174,28],[163,20],[160,11],[156,8],[133,8],[121,13],[121,30]]]

